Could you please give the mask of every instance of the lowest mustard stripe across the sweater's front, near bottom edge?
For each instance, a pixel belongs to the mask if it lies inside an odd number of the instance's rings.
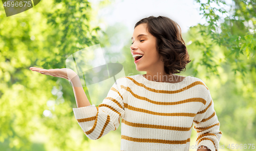
[[[163,144],[185,144],[190,142],[190,138],[182,141],[178,140],[162,140],[162,139],[150,139],[150,138],[133,138],[125,135],[121,135],[121,139],[133,141],[133,142],[147,142],[147,143],[163,143]]]

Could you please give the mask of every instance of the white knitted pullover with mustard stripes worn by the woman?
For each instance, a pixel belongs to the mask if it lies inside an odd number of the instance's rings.
[[[121,120],[120,150],[189,150],[201,145],[219,150],[222,133],[214,102],[196,77],[169,83],[147,80],[141,74],[124,76],[98,106],[73,111],[92,140],[116,131]],[[197,140],[190,144],[192,127]]]

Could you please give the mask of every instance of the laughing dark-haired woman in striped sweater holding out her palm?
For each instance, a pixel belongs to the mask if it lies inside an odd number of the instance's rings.
[[[164,16],[138,21],[130,49],[136,69],[146,74],[117,79],[98,106],[90,104],[74,71],[30,69],[71,81],[74,115],[90,139],[115,131],[122,117],[121,150],[218,150],[222,133],[207,86],[175,75],[191,61],[178,27]],[[197,145],[190,145],[193,123]]]

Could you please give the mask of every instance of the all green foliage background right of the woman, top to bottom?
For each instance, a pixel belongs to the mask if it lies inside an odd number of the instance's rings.
[[[194,76],[207,79],[221,123],[221,143],[255,142],[256,1],[234,0],[234,6],[222,0],[196,2],[207,23],[187,33],[193,56],[188,66]]]

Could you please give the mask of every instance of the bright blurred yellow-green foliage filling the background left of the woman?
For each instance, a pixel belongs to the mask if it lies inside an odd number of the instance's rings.
[[[29,68],[66,68],[69,55],[98,44],[95,10],[88,1],[41,1],[13,17],[3,7],[0,14],[1,148],[30,150],[38,142],[42,150],[84,150],[88,138],[74,119],[68,80]]]

